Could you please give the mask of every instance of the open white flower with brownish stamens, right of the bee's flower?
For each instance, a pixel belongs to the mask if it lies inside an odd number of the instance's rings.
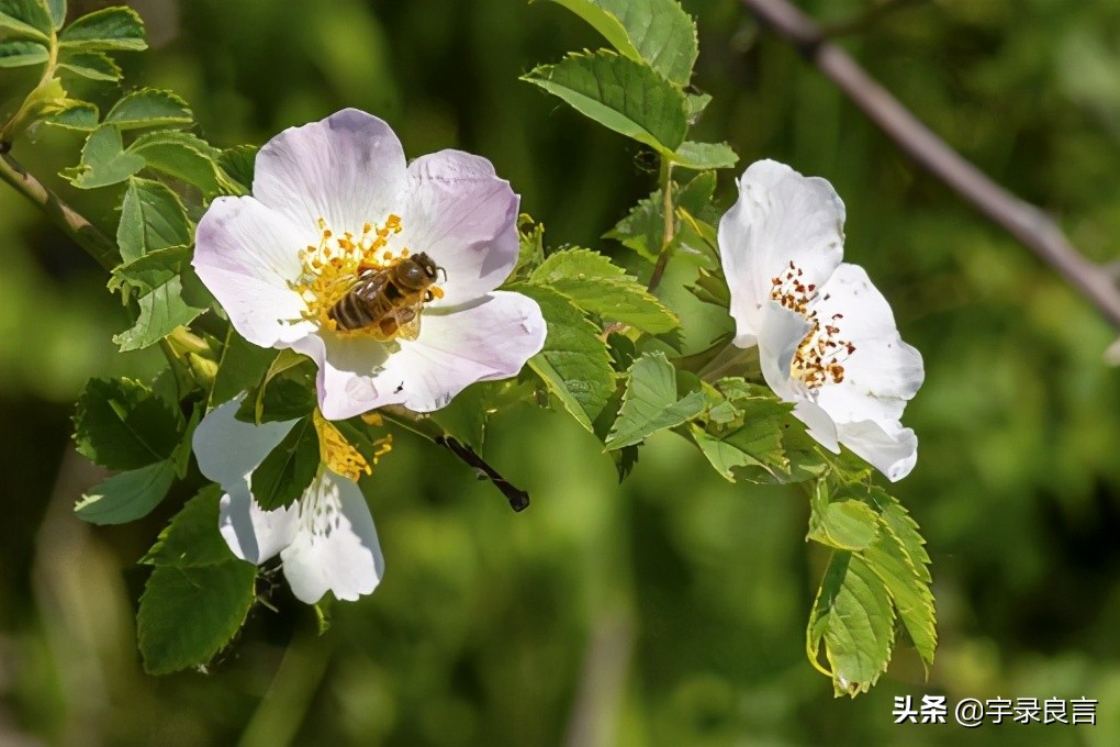
[[[842,262],[843,221],[827,180],[769,160],[747,168],[719,222],[735,344],[758,345],[766,383],[822,446],[898,480],[917,460],[899,419],[925,371],[883,293]]]

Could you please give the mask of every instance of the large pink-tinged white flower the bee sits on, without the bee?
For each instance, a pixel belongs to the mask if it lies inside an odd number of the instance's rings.
[[[428,412],[515,375],[544,344],[536,302],[494,290],[517,261],[519,204],[485,158],[407,165],[385,122],[347,109],[261,149],[252,196],[220,197],[198,223],[194,267],[245,339],[315,360],[326,418]],[[339,327],[332,309],[360,276],[421,253],[438,281],[410,324]]]

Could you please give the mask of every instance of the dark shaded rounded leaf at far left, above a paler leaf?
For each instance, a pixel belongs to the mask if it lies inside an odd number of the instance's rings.
[[[137,469],[171,456],[183,415],[131,379],[91,379],[74,413],[80,454],[109,469]]]

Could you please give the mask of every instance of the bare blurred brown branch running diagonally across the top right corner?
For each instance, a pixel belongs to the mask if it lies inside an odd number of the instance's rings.
[[[795,45],[918,166],[1057,270],[1109,323],[1120,328],[1120,289],[1102,265],[1074,249],[1045,213],[997,185],[945,144],[847,53],[827,41],[816,24],[786,0],[740,2]]]

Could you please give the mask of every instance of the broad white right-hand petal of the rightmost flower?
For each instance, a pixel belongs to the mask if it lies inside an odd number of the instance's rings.
[[[821,386],[816,403],[838,423],[898,420],[922,385],[925,370],[922,355],[899,337],[887,299],[864,268],[848,263],[837,268],[813,309],[822,324],[834,324],[839,337],[856,346],[850,356],[839,358],[843,381]]]

